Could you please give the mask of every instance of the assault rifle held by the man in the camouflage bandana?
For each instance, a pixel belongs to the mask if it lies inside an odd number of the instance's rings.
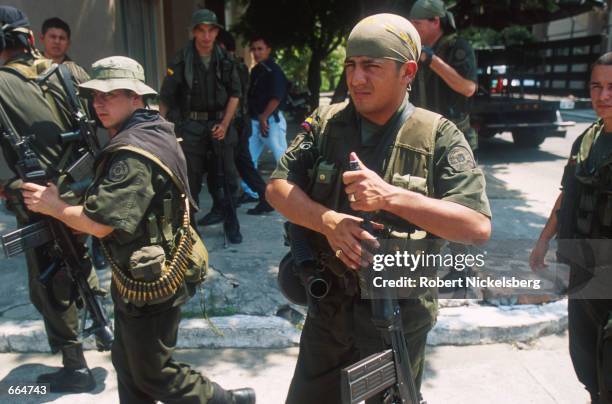
[[[351,160],[349,169],[359,170],[359,163]],[[375,234],[368,215],[363,215],[362,227]],[[372,285],[368,266],[362,264],[359,283],[362,293]],[[380,331],[388,349],[368,356],[341,371],[342,403],[356,404],[377,394],[389,404],[418,404],[418,392],[412,377],[410,356],[404,338],[400,307],[390,288],[377,291],[370,300],[372,321]]]

